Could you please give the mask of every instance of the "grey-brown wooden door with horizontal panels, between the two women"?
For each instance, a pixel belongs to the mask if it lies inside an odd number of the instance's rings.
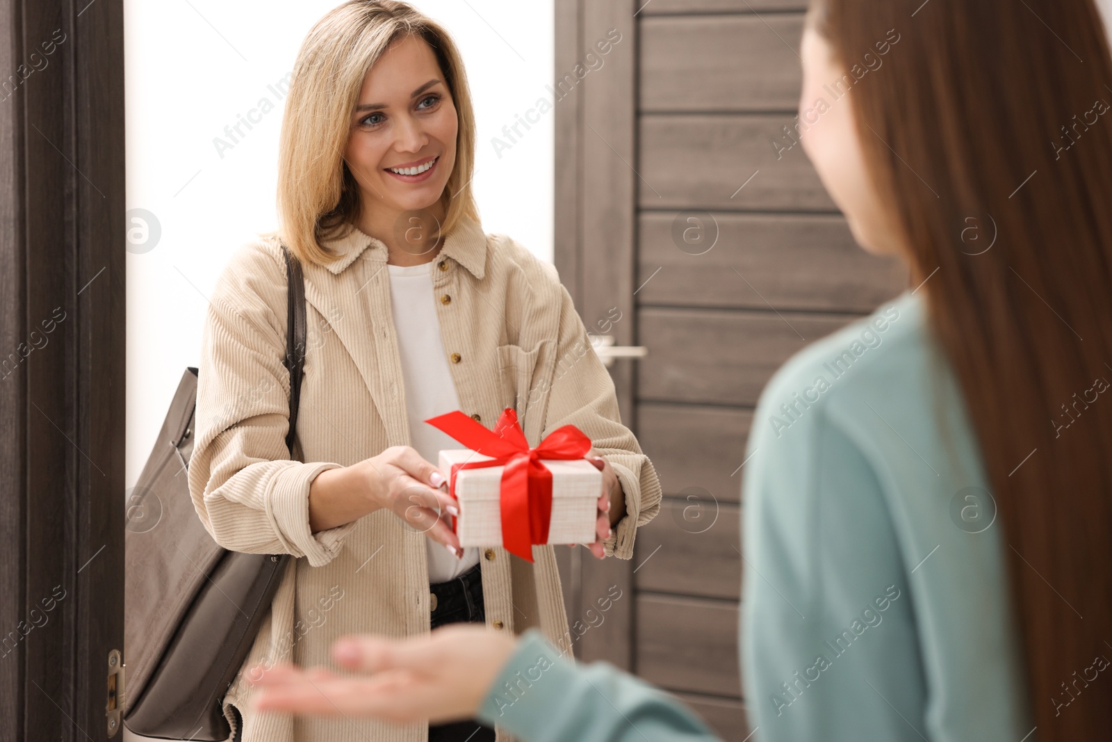
[[[631,562],[562,555],[573,625],[623,591],[576,654],[675,692],[727,739],[748,733],[741,477],[757,396],[906,281],[855,246],[785,133],[805,7],[556,0],[556,266],[588,329],[617,307],[610,334],[648,348],[613,376],[665,493]]]

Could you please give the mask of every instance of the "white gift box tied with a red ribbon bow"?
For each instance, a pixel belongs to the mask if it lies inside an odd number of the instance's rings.
[[[467,446],[441,451],[439,461],[459,501],[453,528],[460,546],[502,545],[532,562],[535,544],[596,540],[603,473],[584,459],[590,438],[577,427],[529,447],[509,407],[493,431],[459,410],[425,422]]]

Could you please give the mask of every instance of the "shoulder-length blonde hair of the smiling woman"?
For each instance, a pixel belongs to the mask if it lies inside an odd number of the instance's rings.
[[[320,240],[345,236],[359,219],[359,185],[344,160],[351,112],[367,70],[405,37],[433,48],[459,119],[456,162],[440,197],[446,206],[440,234],[465,217],[478,220],[470,188],[475,112],[451,36],[406,2],[349,0],[317,21],[297,53],[278,145],[279,227],[260,235],[281,239],[302,263],[336,260]]]

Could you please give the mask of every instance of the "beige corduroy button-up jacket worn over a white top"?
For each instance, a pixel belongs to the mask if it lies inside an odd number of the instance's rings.
[[[189,488],[221,546],[289,553],[271,610],[225,698],[244,742],[423,742],[427,724],[254,714],[245,670],[256,663],[326,665],[342,634],[407,636],[429,631],[428,568],[421,533],[378,511],[311,533],[309,483],[388,446],[408,445],[401,366],[390,307],[386,246],[353,229],[326,243],[342,254],[305,265],[308,338],[291,461],[286,353],[286,267],[280,247],[257,239],[236,251],[214,289],[197,389]],[[486,235],[470,219],[447,235],[431,267],[444,352],[463,410],[488,427],[514,407],[529,445],[572,424],[617,473],[626,516],[606,552],[633,555],[637,527],[659,509],[661,485],[622,425],[614,384],[555,268],[518,243]],[[304,463],[302,463],[304,462]],[[434,462],[435,463],[435,462]],[[560,650],[570,635],[552,546],[533,564],[500,547],[479,560],[487,624],[539,627]],[[512,740],[498,730],[499,742]]]

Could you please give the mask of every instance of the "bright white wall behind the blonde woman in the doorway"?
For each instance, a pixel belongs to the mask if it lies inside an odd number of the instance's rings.
[[[178,380],[196,366],[209,295],[228,255],[274,228],[282,107],[292,69],[336,0],[125,1],[127,204],[157,220],[129,246],[127,486],[150,454]],[[488,233],[552,260],[553,112],[509,150],[492,138],[550,96],[553,0],[416,0],[453,33],[478,120],[473,182]],[[232,149],[216,137],[260,98],[279,103]],[[138,214],[138,212],[137,212]],[[139,225],[129,220],[129,228]],[[153,245],[153,247],[149,247]],[[160,444],[161,445],[161,444]]]

